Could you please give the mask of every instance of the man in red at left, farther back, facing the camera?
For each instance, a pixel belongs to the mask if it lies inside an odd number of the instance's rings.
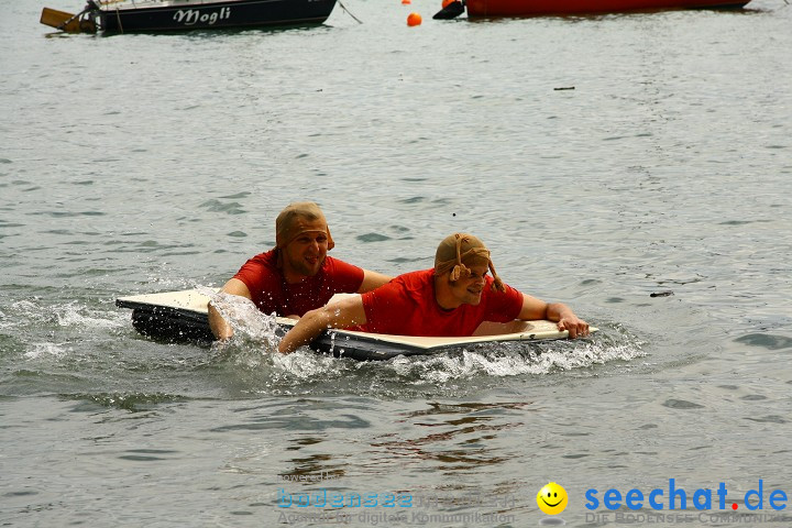
[[[250,258],[222,292],[251,299],[264,314],[299,318],[338,293],[364,293],[391,277],[328,256],[334,246],[327,220],[314,202],[296,202],[275,220],[276,248]],[[209,305],[209,327],[218,339],[231,326]]]

